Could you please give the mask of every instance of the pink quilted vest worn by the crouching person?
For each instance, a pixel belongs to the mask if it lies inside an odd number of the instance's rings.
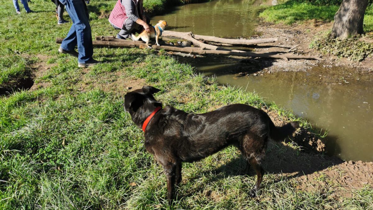
[[[134,1],[135,5],[137,5],[138,1],[137,0],[132,0]],[[136,8],[137,9],[137,8]],[[140,5],[140,10],[139,10],[139,15],[140,17],[142,16],[142,14],[144,13],[144,10],[142,9],[142,1],[141,1],[141,5]],[[126,15],[126,9],[124,8],[124,6],[120,3],[120,0],[117,1],[117,3],[115,4],[114,6],[114,9],[112,10],[112,12],[110,13],[110,16],[109,16],[109,22],[113,25],[115,25],[116,27],[118,28],[122,28],[123,27],[123,24],[126,22],[126,20],[128,19],[127,15]]]

